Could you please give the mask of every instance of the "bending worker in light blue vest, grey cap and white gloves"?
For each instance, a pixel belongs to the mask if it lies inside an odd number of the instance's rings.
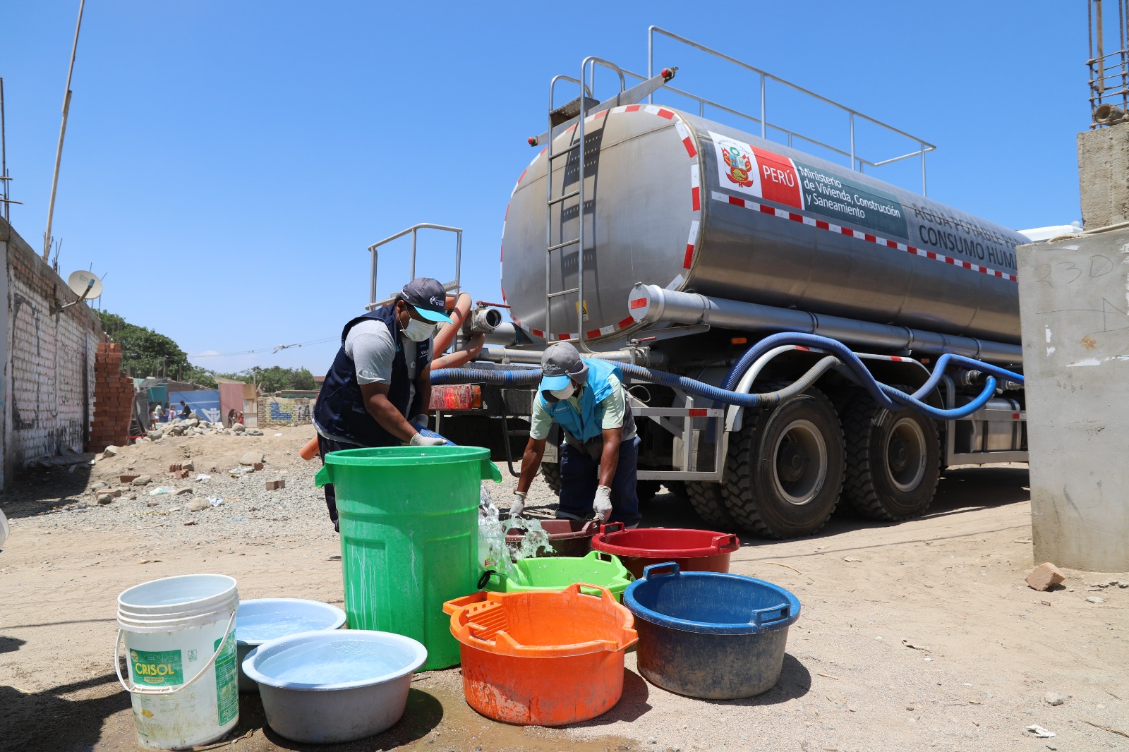
[[[524,511],[545,439],[557,423],[563,430],[558,519],[596,516],[634,527],[640,519],[636,495],[639,438],[620,367],[609,360],[581,358],[575,347],[558,342],[541,356],[541,370],[510,515]]]

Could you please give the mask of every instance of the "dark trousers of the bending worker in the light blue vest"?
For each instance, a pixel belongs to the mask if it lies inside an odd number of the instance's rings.
[[[631,526],[639,522],[639,497],[636,493],[636,464],[639,460],[639,437],[620,441],[620,460],[612,478],[612,517]],[[561,445],[561,493],[558,517],[587,519],[592,517],[592,500],[599,486],[599,461],[587,452]]]

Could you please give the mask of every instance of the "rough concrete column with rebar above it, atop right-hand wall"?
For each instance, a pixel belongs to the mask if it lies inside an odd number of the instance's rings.
[[[1078,133],[1078,187],[1086,229],[1129,220],[1129,123]]]

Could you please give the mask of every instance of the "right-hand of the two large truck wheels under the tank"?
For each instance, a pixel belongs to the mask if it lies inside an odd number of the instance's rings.
[[[860,397],[843,411],[843,430],[847,502],[870,519],[925,514],[940,474],[937,425],[909,408],[891,412]]]

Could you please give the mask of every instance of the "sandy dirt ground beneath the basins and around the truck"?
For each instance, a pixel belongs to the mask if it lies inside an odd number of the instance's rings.
[[[317,463],[297,458],[308,435],[165,439],[93,469],[35,471],[0,497],[12,519],[0,552],[0,750],[135,749],[112,663],[115,598],[131,585],[212,571],[237,578],[244,598],[342,602],[338,539],[313,489]],[[266,472],[226,476],[248,448],[268,455]],[[224,507],[193,516],[182,508],[189,497],[154,502],[145,491],[99,507],[87,491],[128,465],[167,483],[167,465],[184,458],[198,472],[217,467],[215,486],[198,483],[192,496],[222,492]],[[264,478],[285,478],[286,491],[252,491]],[[1052,592],[1027,588],[1026,484],[1024,466],[951,469],[921,519],[884,525],[840,510],[814,537],[745,540],[732,570],[803,604],[779,683],[755,698],[671,694],[640,677],[632,653],[610,712],[523,729],[470,710],[453,668],[418,675],[404,718],[369,740],[288,742],[265,725],[257,696],[243,696],[236,732],[205,749],[1129,750],[1129,588],[1097,586],[1129,575],[1067,571]],[[507,478],[496,498],[511,488]],[[701,526],[666,493],[644,524]],[[1035,738],[1032,724],[1056,736]]]

